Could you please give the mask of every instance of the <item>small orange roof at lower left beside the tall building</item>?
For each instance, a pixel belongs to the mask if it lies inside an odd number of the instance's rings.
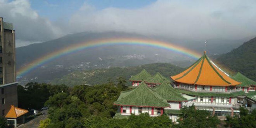
[[[14,107],[12,105],[9,112],[5,115],[5,118],[18,118],[26,113],[28,113],[28,110]]]

